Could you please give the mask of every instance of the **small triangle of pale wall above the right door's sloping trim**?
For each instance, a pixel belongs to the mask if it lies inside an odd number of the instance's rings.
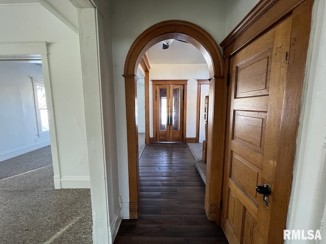
[[[235,28],[258,2],[259,0],[227,0],[225,36]]]

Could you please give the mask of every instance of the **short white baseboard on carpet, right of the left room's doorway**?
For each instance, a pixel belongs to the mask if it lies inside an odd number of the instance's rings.
[[[56,189],[91,187],[89,176],[55,176],[53,179]]]

